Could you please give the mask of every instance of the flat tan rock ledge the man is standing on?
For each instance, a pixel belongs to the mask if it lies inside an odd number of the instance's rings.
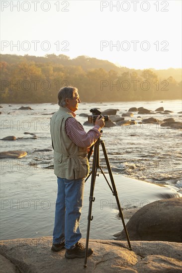
[[[86,240],[81,239],[85,245]],[[65,249],[51,251],[52,237],[0,241],[1,273],[181,273],[182,244],[163,241],[93,240],[93,254],[68,260]]]

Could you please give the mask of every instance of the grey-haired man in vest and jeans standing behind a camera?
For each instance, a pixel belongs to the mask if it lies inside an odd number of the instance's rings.
[[[84,258],[85,248],[79,242],[79,227],[84,197],[85,178],[89,174],[88,148],[99,138],[104,118],[97,117],[95,126],[86,133],[75,119],[81,102],[78,89],[63,87],[58,93],[59,110],[51,118],[51,137],[54,149],[54,173],[58,194],[53,231],[53,251],[66,248],[68,259]],[[88,256],[93,253],[88,249]]]

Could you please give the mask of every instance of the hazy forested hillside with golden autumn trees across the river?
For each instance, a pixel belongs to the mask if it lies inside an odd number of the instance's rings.
[[[135,70],[79,56],[1,55],[1,103],[56,102],[63,86],[76,86],[82,101],[182,98],[181,69]]]

